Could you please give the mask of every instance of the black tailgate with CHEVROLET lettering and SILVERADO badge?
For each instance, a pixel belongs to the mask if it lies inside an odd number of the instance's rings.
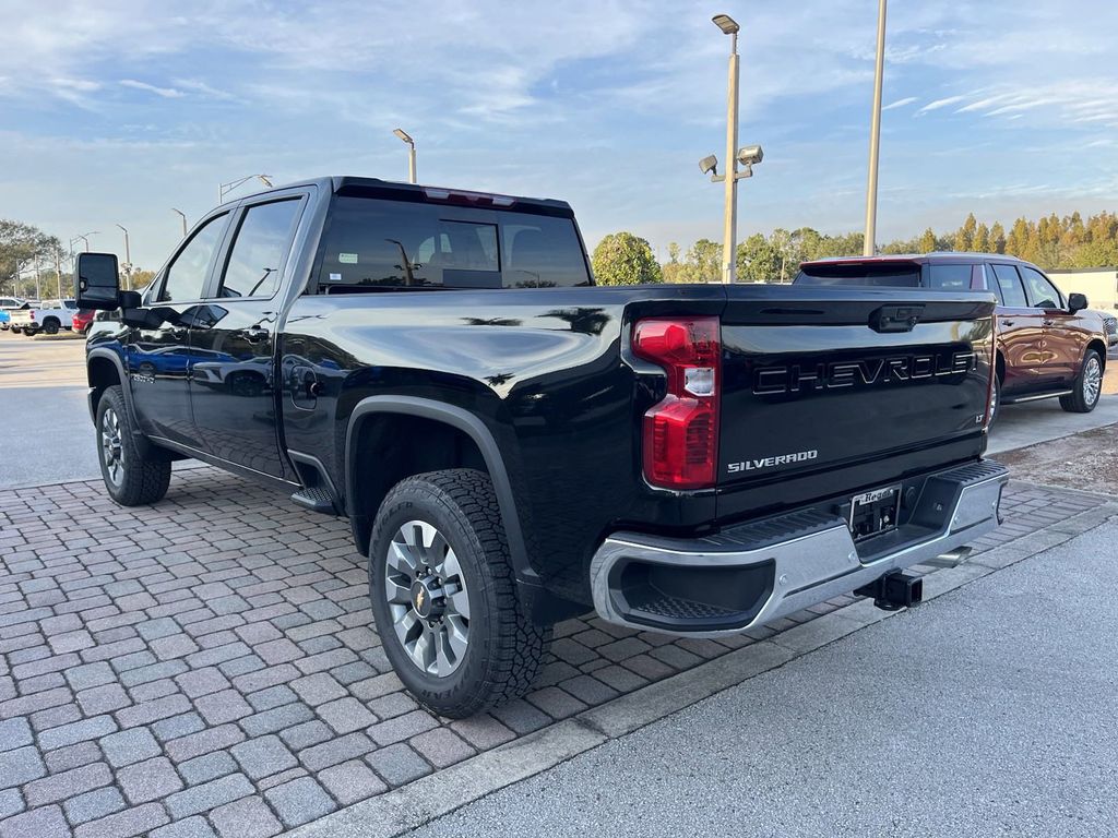
[[[740,292],[722,315],[720,517],[982,454],[993,296]]]

